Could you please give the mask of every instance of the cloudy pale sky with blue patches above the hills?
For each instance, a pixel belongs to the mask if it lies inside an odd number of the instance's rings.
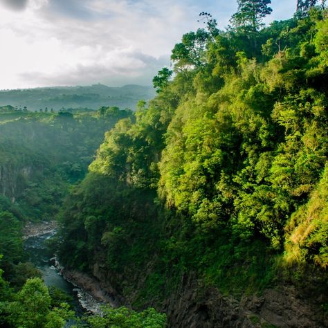
[[[267,24],[293,16],[271,2]],[[0,0],[0,89],[151,85],[202,11],[224,29],[237,0]]]

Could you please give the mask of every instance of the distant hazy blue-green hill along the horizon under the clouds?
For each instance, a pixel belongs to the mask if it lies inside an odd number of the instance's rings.
[[[98,109],[101,106],[117,106],[121,109],[136,109],[138,100],[153,98],[152,86],[129,84],[110,87],[104,84],[91,86],[55,86],[49,88],[1,90],[0,106],[27,107],[29,111],[53,108]]]

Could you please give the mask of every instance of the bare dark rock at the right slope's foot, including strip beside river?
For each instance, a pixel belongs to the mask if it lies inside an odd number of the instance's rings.
[[[110,281],[119,282],[95,264],[93,276],[64,270],[67,280],[102,301],[116,306],[129,306],[131,299],[122,298]],[[122,277],[120,277],[122,278]],[[320,301],[320,300],[318,300]],[[181,284],[158,311],[167,313],[170,328],[325,328],[328,316],[320,311],[320,302],[304,300],[295,286],[266,289],[261,296],[244,296],[240,300],[222,295],[215,287],[206,287],[196,277],[184,276]]]

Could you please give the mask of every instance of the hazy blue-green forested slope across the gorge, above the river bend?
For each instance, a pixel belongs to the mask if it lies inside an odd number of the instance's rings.
[[[131,111],[0,113],[0,192],[29,219],[53,217],[67,189],[84,177],[104,131]]]

